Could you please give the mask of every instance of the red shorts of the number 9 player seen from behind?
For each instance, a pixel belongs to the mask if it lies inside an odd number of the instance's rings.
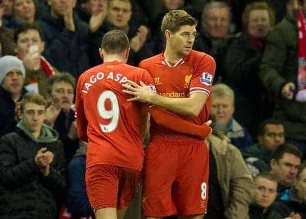
[[[131,204],[140,172],[113,165],[86,169],[86,190],[91,207],[122,209]]]

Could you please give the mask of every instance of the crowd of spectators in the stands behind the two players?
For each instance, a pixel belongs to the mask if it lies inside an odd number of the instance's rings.
[[[94,217],[75,84],[110,30],[128,64],[161,53],[172,10],[196,17],[193,48],[217,65],[205,218],[306,218],[300,0],[0,0],[0,218]],[[125,218],[142,218],[141,184]]]

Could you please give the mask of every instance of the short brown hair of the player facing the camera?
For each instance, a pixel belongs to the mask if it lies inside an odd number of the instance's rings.
[[[163,18],[161,31],[163,34],[166,30],[175,33],[184,25],[196,26],[197,21],[184,10],[170,11]]]

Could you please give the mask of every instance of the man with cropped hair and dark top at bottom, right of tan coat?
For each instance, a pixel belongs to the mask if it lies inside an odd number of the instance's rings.
[[[283,218],[271,205],[277,196],[277,180],[270,173],[260,173],[255,178],[256,192],[249,206],[250,219],[281,219]]]

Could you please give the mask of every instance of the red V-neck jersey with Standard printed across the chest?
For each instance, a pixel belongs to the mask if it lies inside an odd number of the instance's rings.
[[[188,98],[194,92],[206,93],[209,98],[200,114],[196,117],[182,117],[197,125],[202,125],[208,120],[210,92],[216,70],[215,60],[211,56],[192,50],[188,56],[175,64],[170,64],[162,53],[143,60],[139,67],[149,72],[160,95],[169,98]],[[154,119],[151,119],[150,137],[152,140],[167,138],[168,141],[194,139],[159,126]]]

